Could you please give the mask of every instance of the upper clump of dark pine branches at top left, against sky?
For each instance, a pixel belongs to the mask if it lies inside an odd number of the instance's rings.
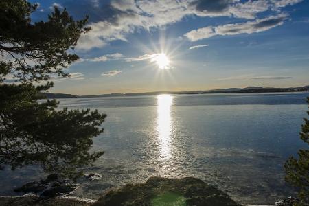
[[[68,76],[62,68],[78,60],[68,49],[90,30],[84,27],[88,17],[74,21],[55,7],[48,21],[33,23],[36,8],[24,0],[0,1],[0,80],[9,73],[21,82],[48,80],[53,73]]]

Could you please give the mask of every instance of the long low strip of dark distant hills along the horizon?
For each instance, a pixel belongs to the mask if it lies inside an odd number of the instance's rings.
[[[158,94],[203,94],[203,93],[272,93],[272,92],[300,92],[309,91],[309,85],[304,87],[246,87],[246,88],[227,88],[227,89],[212,89],[206,91],[153,91],[144,93],[110,93],[102,95],[71,95],[65,93],[43,93],[47,98],[101,98],[101,97],[126,97],[139,95],[158,95]]]

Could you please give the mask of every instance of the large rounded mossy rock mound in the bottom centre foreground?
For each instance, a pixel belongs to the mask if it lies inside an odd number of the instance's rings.
[[[225,192],[192,177],[151,177],[144,184],[129,184],[119,190],[111,190],[94,205],[240,206]]]

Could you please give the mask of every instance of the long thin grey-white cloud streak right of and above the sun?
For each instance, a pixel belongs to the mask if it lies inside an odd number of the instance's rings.
[[[219,25],[217,27],[203,27],[198,30],[187,32],[187,34],[184,36],[187,37],[190,41],[198,41],[216,35],[225,36],[264,32],[266,30],[270,30],[273,27],[282,25],[287,16],[287,14],[279,14],[277,16],[269,16],[264,19],[256,19],[255,21],[247,21],[244,23]]]

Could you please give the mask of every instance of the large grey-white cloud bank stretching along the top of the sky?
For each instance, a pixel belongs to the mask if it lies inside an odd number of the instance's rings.
[[[76,0],[65,7],[76,15],[89,14],[92,30],[80,37],[76,49],[104,47],[111,41],[127,41],[137,30],[151,30],[181,21],[185,16],[233,16],[255,19],[260,12],[279,12],[280,8],[301,0]],[[82,5],[82,6],[79,6]],[[70,10],[71,9],[71,10]],[[214,28],[204,32],[214,36]],[[261,30],[262,31],[262,30]]]

